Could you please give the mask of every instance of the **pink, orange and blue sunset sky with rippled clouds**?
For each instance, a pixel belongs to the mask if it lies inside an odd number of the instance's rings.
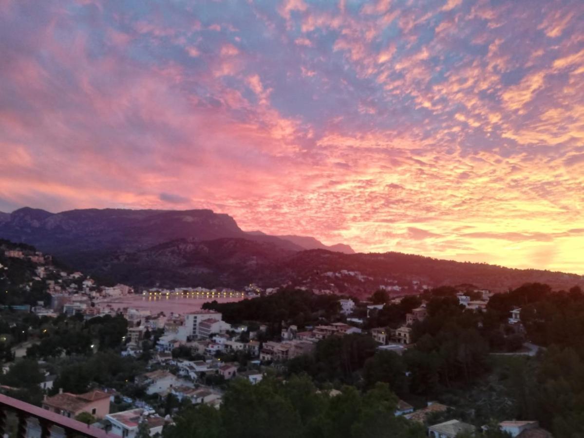
[[[0,211],[584,274],[582,29],[581,0],[0,0]]]

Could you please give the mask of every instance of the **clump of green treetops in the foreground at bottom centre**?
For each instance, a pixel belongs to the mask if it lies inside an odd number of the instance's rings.
[[[235,379],[219,411],[205,405],[179,413],[166,438],[423,437],[424,429],[394,416],[397,397],[379,383],[360,394],[342,387],[339,395],[317,391],[307,376],[287,381],[268,377],[256,385]]]

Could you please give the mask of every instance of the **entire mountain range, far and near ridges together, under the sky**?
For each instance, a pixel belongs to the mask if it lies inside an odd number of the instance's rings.
[[[361,297],[380,286],[395,293],[419,292],[424,285],[471,284],[496,292],[526,282],[554,289],[584,286],[582,276],[562,272],[330,251],[310,237],[244,232],[230,216],[210,210],[50,213],[22,208],[8,219],[0,215],[0,238],[32,244],[72,268],[132,286],[243,288],[257,283]],[[310,246],[317,248],[304,249]]]

